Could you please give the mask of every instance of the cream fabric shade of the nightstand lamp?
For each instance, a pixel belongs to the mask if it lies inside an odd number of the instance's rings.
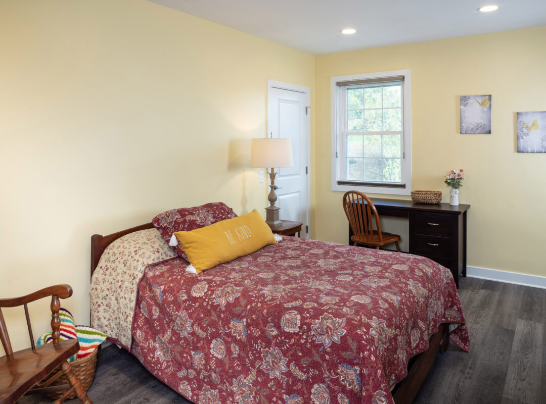
[[[250,166],[293,167],[292,142],[288,138],[252,139]]]

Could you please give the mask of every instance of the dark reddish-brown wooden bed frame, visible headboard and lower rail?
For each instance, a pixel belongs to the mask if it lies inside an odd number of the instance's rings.
[[[144,225],[109,234],[108,236],[93,234],[93,236],[91,236],[91,276],[93,276],[93,272],[95,268],[97,268],[100,256],[102,256],[104,250],[110,243],[126,234],[139,230],[146,230],[148,228],[153,228],[153,224],[146,223]],[[413,399],[423,384],[426,375],[428,375],[432,364],[434,364],[436,355],[438,352],[443,353],[446,351],[447,346],[449,345],[448,334],[449,324],[440,324],[437,333],[431,335],[429,339],[429,348],[410,359],[407,376],[401,382],[397,383],[391,391],[396,404],[411,404],[413,402]]]

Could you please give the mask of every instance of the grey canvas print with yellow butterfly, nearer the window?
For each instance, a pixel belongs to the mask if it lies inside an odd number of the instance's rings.
[[[461,134],[491,134],[491,95],[461,95]]]

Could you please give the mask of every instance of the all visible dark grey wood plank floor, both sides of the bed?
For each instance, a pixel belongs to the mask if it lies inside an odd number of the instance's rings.
[[[450,344],[438,355],[414,403],[546,403],[546,290],[461,278],[459,294],[471,351]],[[99,353],[88,394],[94,404],[191,404],[113,345]],[[20,400],[29,403],[51,400]]]

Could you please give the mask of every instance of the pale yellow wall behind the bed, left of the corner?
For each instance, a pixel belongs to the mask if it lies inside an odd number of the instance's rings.
[[[314,83],[311,55],[144,0],[3,1],[0,55],[0,297],[65,282],[78,323],[91,235],[212,201],[265,207],[248,165],[266,81]],[[35,336],[48,308],[31,306]],[[22,309],[4,313],[28,346]]]

